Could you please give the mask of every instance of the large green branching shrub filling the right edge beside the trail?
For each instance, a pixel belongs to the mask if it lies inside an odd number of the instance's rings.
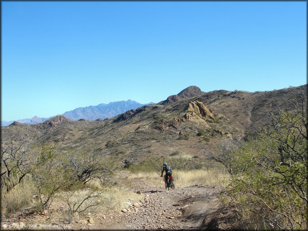
[[[216,155],[230,172],[225,201],[242,212],[247,229],[307,229],[307,97],[293,111],[267,112],[270,124],[254,139],[221,145]]]

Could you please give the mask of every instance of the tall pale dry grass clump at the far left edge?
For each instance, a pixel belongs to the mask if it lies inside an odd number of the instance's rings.
[[[13,181],[17,181],[14,179]],[[11,182],[10,184],[12,185]],[[29,179],[23,179],[10,192],[6,188],[1,188],[1,213],[3,215],[12,214],[26,208],[33,200],[33,184]]]

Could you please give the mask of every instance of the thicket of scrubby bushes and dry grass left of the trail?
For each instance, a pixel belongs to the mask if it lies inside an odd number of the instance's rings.
[[[82,212],[97,205],[107,188],[119,180],[117,161],[105,156],[98,147],[66,151],[54,144],[37,144],[28,149],[18,147],[22,146],[1,147],[2,164],[6,166],[1,171],[1,183],[5,186],[1,187],[1,199],[5,202],[2,212],[14,212],[27,205],[33,193],[39,195],[36,208],[41,211],[49,210],[55,198],[68,195],[64,201],[71,212]],[[24,179],[30,179],[33,187],[26,188]],[[93,186],[93,180],[100,182],[98,186]],[[90,189],[84,191],[86,187]]]

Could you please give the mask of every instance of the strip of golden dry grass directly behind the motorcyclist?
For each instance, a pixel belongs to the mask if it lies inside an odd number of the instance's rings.
[[[184,171],[172,171],[174,176],[174,184],[176,188],[183,188],[196,184],[213,185],[213,186],[226,186],[222,180],[228,177],[228,173],[217,169],[208,170],[192,170],[188,172]],[[129,178],[141,177],[146,180],[148,184],[153,186],[164,186],[164,181],[160,177],[160,173],[157,172],[140,172],[136,174],[130,174]]]

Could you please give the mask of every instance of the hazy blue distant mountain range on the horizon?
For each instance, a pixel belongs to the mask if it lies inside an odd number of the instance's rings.
[[[128,99],[127,101],[118,101],[118,102],[111,102],[111,103],[101,103],[96,106],[88,106],[88,107],[78,107],[72,111],[66,111],[63,114],[58,114],[58,115],[64,115],[70,120],[80,120],[80,119],[85,119],[85,120],[97,120],[97,119],[106,119],[106,118],[111,118],[116,115],[119,115],[125,111],[131,110],[131,109],[136,109],[138,107],[148,105],[148,104],[154,104],[153,102],[151,103],[145,103],[141,104],[136,101]],[[54,116],[51,116],[54,117]],[[46,120],[49,120],[51,117],[48,118],[40,118],[38,116],[34,116],[31,119],[22,119],[22,120],[17,120],[17,122],[22,123],[22,124],[38,124],[45,122]],[[8,126],[12,124],[15,120],[13,121],[1,121],[1,127]]]

